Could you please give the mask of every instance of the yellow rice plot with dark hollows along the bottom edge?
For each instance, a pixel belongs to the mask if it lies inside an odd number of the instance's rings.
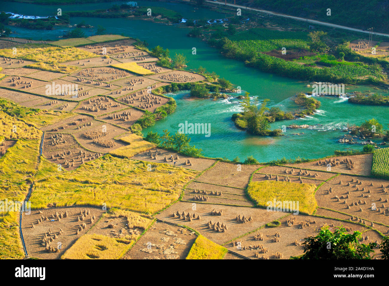
[[[133,243],[133,240],[85,234],[61,256],[61,259],[119,259]]]

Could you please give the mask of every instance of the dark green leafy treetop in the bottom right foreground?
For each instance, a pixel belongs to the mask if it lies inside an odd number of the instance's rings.
[[[304,254],[300,259],[371,259],[373,247],[377,244],[361,244],[360,232],[347,233],[343,226],[337,227],[334,232],[328,226],[321,228],[315,237],[308,237],[304,244]]]

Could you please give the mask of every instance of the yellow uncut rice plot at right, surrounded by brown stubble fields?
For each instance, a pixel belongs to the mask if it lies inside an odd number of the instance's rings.
[[[312,214],[317,207],[314,184],[297,184],[281,181],[250,182],[247,192],[256,205],[267,207],[267,202],[299,202],[299,211]]]

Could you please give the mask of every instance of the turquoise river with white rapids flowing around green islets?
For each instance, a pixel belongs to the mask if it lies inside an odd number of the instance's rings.
[[[150,5],[156,6],[161,4],[158,2],[150,2]],[[0,3],[0,10],[9,12],[19,12],[28,15],[42,15],[53,6],[41,6],[32,4],[16,4],[15,9],[9,7],[9,2]],[[111,3],[102,3],[107,5],[101,7],[111,7]],[[98,4],[96,4],[98,5]],[[142,2],[138,2],[142,5]],[[61,5],[63,11],[74,10],[74,5]],[[97,9],[93,5],[86,5],[84,8],[80,5],[79,10]],[[55,8],[55,7],[54,7]],[[171,8],[173,9],[173,8]],[[192,11],[192,7],[185,4],[177,4],[175,9],[184,17],[190,18],[196,12]],[[56,9],[55,9],[56,11]],[[201,17],[220,18],[220,13],[213,11],[196,14]],[[223,14],[224,15],[224,14]],[[225,15],[224,15],[225,16]],[[223,17],[224,17],[223,16]],[[260,72],[253,68],[246,67],[244,63],[224,58],[216,49],[209,47],[205,42],[187,37],[188,29],[184,24],[180,25],[164,25],[151,21],[143,21],[136,18],[120,18],[120,19],[105,19],[105,18],[71,18],[71,24],[77,24],[81,21],[97,26],[102,25],[106,28],[107,33],[123,34],[130,37],[146,40],[149,47],[157,45],[163,46],[170,50],[173,56],[175,53],[184,54],[189,63],[188,70],[197,69],[199,66],[207,68],[209,71],[214,71],[221,77],[230,80],[235,86],[241,86],[242,90],[248,91],[250,95],[263,100],[270,98],[272,105],[278,105],[284,110],[294,110],[296,108],[293,101],[290,100],[297,92],[312,91],[312,88],[307,88],[308,82],[296,81],[277,75]],[[32,39],[58,39],[68,28],[58,27],[52,31],[28,30],[25,28],[11,27],[12,31],[16,31],[16,37],[32,38]],[[87,35],[95,34],[96,29],[84,29]],[[197,54],[192,54],[192,48],[196,47]],[[349,86],[347,91],[361,92],[378,92],[372,86]],[[387,92],[387,91],[386,91]],[[170,114],[166,119],[158,121],[156,125],[144,130],[144,134],[148,131],[157,131],[159,133],[164,129],[170,132],[178,130],[178,124],[188,121],[189,123],[210,123],[211,135],[189,135],[191,143],[196,147],[202,148],[206,156],[211,157],[226,157],[233,159],[239,156],[244,159],[249,155],[253,155],[259,161],[269,161],[277,158],[318,158],[333,154],[336,149],[345,150],[348,148],[361,149],[362,145],[340,144],[336,142],[344,133],[340,130],[350,125],[360,124],[366,119],[377,118],[384,128],[389,124],[389,116],[387,115],[387,107],[371,107],[362,105],[352,105],[336,97],[316,97],[321,101],[322,105],[317,114],[313,116],[298,119],[287,120],[272,123],[273,128],[280,128],[282,125],[315,125],[312,129],[287,129],[286,135],[282,137],[255,137],[248,135],[242,130],[235,128],[231,121],[231,115],[239,112],[239,100],[188,100],[187,91],[180,91],[174,95],[177,101],[177,109],[173,114]],[[293,133],[304,132],[303,135],[292,135]]]

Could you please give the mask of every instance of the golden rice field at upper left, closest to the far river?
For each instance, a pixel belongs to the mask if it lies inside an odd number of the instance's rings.
[[[47,45],[29,44],[19,46],[17,53],[12,49],[0,49],[0,56],[7,58],[21,58],[48,64],[64,63],[66,61],[94,58],[96,54],[77,49],[76,47],[53,47]]]

